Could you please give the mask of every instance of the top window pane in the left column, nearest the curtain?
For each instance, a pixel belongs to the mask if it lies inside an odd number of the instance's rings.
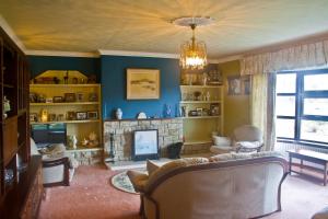
[[[296,92],[296,73],[277,74],[277,93]]]

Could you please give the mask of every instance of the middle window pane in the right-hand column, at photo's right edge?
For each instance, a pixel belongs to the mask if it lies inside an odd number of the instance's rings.
[[[328,99],[304,99],[304,115],[328,116]]]

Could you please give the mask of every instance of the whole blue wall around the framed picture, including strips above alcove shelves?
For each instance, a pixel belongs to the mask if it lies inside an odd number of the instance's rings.
[[[97,76],[102,83],[103,118],[115,118],[116,108],[122,110],[124,118],[136,118],[144,112],[148,116],[163,117],[165,104],[171,106],[172,117],[177,115],[180,100],[180,69],[177,59],[148,58],[129,56],[101,56],[99,58],[28,56],[31,77],[34,78],[46,70],[79,70],[82,73]],[[215,69],[218,65],[208,65],[203,72]],[[160,69],[160,100],[127,100],[127,68]]]

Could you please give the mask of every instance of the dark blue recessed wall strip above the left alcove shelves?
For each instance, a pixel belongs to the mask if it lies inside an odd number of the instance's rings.
[[[59,57],[59,56],[27,56],[31,78],[47,70],[78,70],[84,74],[96,74],[101,81],[99,58]]]

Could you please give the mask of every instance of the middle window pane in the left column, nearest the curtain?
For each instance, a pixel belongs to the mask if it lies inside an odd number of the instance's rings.
[[[277,96],[276,114],[279,116],[295,116],[295,96]]]

